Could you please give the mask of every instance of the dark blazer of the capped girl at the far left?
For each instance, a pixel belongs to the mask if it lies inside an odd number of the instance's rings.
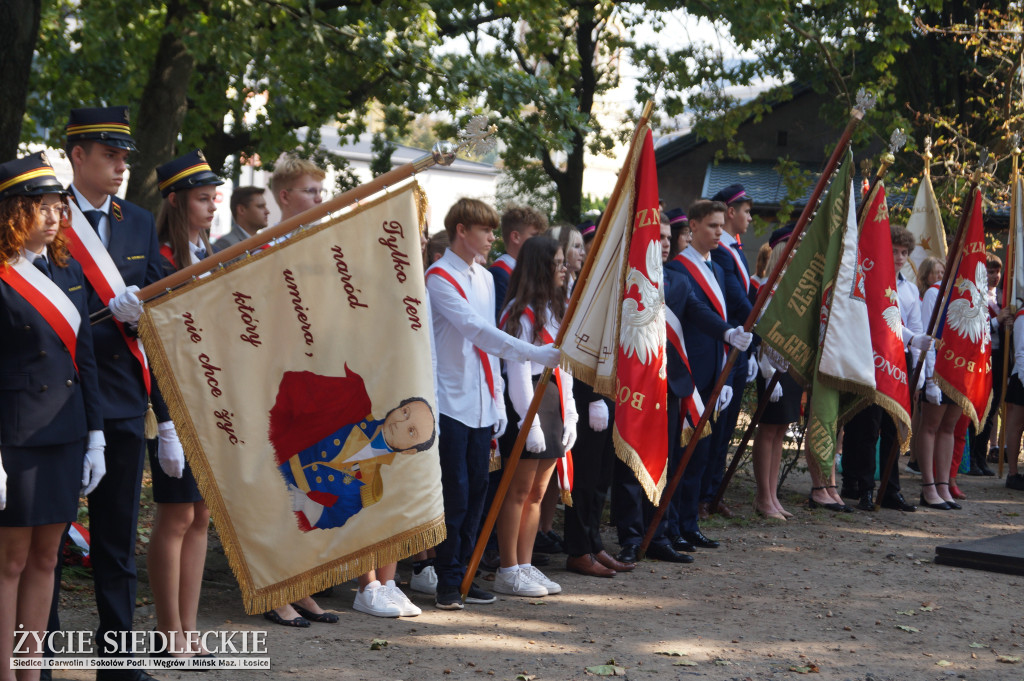
[[[67,267],[50,268],[82,315],[78,371],[42,314],[0,282],[0,445],[67,444],[103,428],[85,276],[71,259]]]

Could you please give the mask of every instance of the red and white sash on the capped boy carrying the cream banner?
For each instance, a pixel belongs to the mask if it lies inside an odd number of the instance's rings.
[[[106,305],[112,298],[123,293],[127,287],[121,278],[118,266],[114,264],[111,254],[106,252],[96,230],[92,228],[89,220],[82,213],[82,209],[74,201],[69,202],[69,205],[71,206],[71,225],[65,229],[65,235],[68,237],[68,250],[71,251],[72,257],[82,265],[85,279],[99,296],[99,300]],[[145,384],[145,392],[148,394],[152,391],[150,363],[145,357],[145,350],[142,349],[142,343],[138,338],[129,336],[123,324],[117,321],[114,324],[121,332],[122,338],[125,339],[128,350],[142,368],[142,382]]]

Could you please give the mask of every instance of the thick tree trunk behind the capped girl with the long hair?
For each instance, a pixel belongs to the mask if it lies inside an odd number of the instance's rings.
[[[188,16],[184,2],[169,2],[164,34],[142,91],[138,121],[132,133],[138,152],[132,159],[128,200],[153,213],[160,209],[157,166],[176,156],[178,133],[188,111],[188,81],[196,59],[180,37],[181,20]]]

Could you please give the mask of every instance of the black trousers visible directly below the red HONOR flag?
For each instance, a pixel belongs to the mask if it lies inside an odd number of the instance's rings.
[[[870,405],[850,419],[843,429],[843,486],[863,495],[874,491],[874,444],[885,465],[896,441],[896,424],[878,405]],[[893,462],[886,497],[900,491],[899,459]]]

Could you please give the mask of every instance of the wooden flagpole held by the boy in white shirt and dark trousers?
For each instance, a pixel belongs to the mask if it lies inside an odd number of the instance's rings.
[[[626,156],[629,161],[632,161],[637,144],[643,143],[643,140],[639,138],[640,131],[646,127],[653,110],[654,102],[648,101],[644,105],[643,112],[640,114],[640,120],[637,122],[636,128],[633,131],[633,139],[630,140],[630,147]],[[621,172],[618,173],[618,178],[615,180],[615,186],[611,193],[611,199],[608,201],[608,206],[605,208],[604,215],[601,217],[601,224],[598,225],[590,252],[587,254],[587,259],[583,264],[583,268],[580,270],[580,276],[577,279],[577,282],[572,287],[572,295],[569,298],[565,314],[562,316],[562,323],[558,327],[558,336],[555,338],[554,343],[555,347],[561,347],[562,341],[565,338],[565,333],[569,326],[568,321],[571,320],[572,315],[575,313],[577,305],[580,302],[580,296],[582,295],[587,280],[590,279],[591,270],[594,268],[594,263],[597,260],[597,253],[601,250],[601,245],[604,243],[605,236],[607,235],[608,223],[618,211],[618,204],[622,202],[623,189],[626,186],[626,179],[629,173]],[[537,411],[541,407],[541,399],[544,397],[544,391],[547,389],[548,383],[551,382],[550,379],[551,370],[545,369],[544,373],[541,374],[541,379],[537,382],[537,388],[534,390],[534,399],[530,401],[529,409],[526,410],[526,414],[523,416],[522,427],[519,428],[519,434],[516,436],[515,444],[512,446],[512,452],[509,454],[508,459],[503,462],[501,482],[498,484],[498,490],[495,491],[495,499],[490,504],[490,509],[487,510],[487,515],[480,524],[480,533],[476,540],[476,546],[473,547],[473,553],[469,558],[469,564],[466,565],[466,574],[463,577],[462,585],[459,588],[459,592],[462,594],[463,600],[466,600],[466,594],[469,593],[469,588],[473,584],[473,578],[476,576],[476,568],[480,564],[480,558],[483,557],[483,551],[487,546],[487,539],[490,537],[490,531],[494,529],[495,522],[498,520],[498,513],[501,511],[502,503],[505,501],[505,495],[512,485],[512,476],[515,474],[515,469],[519,465],[519,458],[522,456],[522,450],[526,445],[526,437],[529,434],[529,427],[534,423],[534,419],[537,417]]]

